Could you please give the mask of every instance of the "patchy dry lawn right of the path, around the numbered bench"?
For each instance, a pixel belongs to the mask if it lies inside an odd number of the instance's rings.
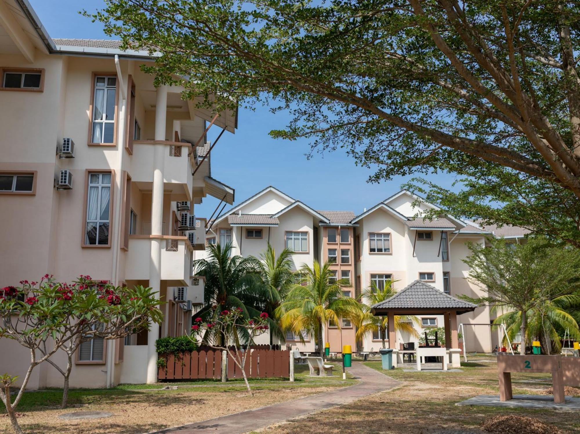
[[[480,357],[471,357],[480,360]],[[496,363],[462,363],[463,372],[383,371],[380,361],[365,362],[403,384],[391,391],[357,402],[312,414],[305,418],[269,426],[268,433],[478,433],[478,426],[496,415],[536,417],[559,426],[563,432],[580,432],[580,414],[554,410],[459,407],[456,402],[476,395],[499,395]],[[542,380],[549,381],[542,381]],[[551,385],[548,374],[513,373],[514,393],[538,394]],[[481,431],[483,433],[483,431]]]

